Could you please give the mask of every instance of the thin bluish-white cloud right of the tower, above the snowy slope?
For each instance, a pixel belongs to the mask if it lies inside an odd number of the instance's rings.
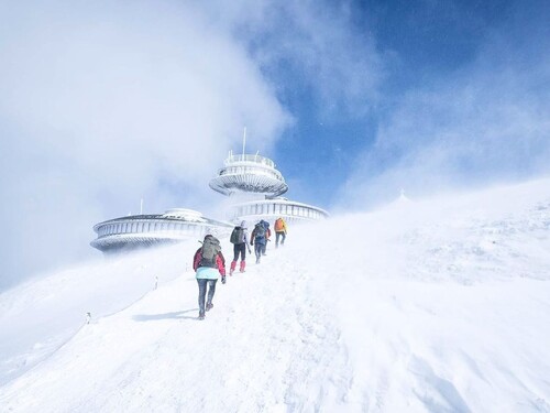
[[[521,181],[550,173],[550,61],[490,39],[468,68],[404,94],[355,159],[341,206],[373,206],[405,188]]]

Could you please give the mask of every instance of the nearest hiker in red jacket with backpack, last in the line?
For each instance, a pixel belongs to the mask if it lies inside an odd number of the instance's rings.
[[[218,238],[211,235],[205,236],[202,247],[195,252],[193,258],[193,269],[196,271],[197,284],[199,285],[199,319],[204,319],[205,309],[208,312],[213,307],[212,298],[218,275],[221,275],[221,283],[226,284],[226,259],[221,253]],[[208,300],[205,307],[207,285]]]

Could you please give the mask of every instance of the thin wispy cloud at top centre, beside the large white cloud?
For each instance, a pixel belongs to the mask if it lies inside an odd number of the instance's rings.
[[[364,116],[378,102],[384,58],[366,23],[354,20],[356,4],[352,1],[213,4],[212,12],[223,11],[223,19],[231,22],[235,36],[250,44],[263,70],[276,81],[287,83],[280,85],[288,88],[284,91],[312,91],[311,107],[326,121],[337,113]]]

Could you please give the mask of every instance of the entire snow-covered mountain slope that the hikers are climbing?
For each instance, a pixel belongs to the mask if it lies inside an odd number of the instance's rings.
[[[0,295],[0,411],[550,412],[550,180],[290,227],[202,322],[197,246]]]

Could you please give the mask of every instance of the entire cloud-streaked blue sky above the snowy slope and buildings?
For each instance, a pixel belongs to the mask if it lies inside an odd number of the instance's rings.
[[[221,214],[208,181],[244,127],[332,213],[547,175],[548,21],[542,0],[2,2],[0,285],[95,257],[91,226],[142,197]]]

